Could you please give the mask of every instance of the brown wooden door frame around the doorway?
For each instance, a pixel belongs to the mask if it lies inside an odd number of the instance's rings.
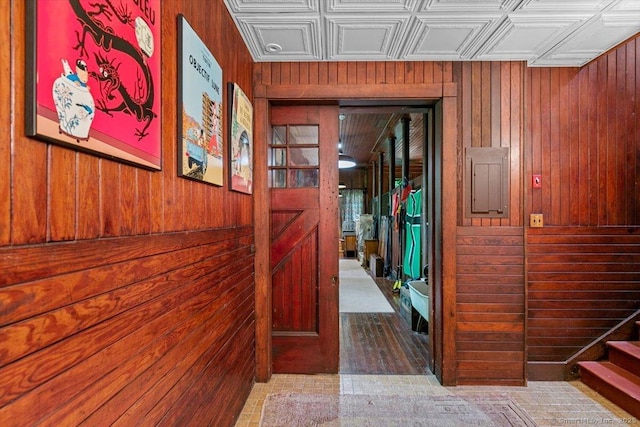
[[[383,89],[381,90],[381,87]],[[442,274],[434,277],[440,307],[434,313],[442,339],[431,334],[430,348],[443,385],[456,384],[456,224],[457,224],[457,84],[337,84],[254,86],[254,242],[255,242],[255,327],[256,381],[267,382],[272,371],[270,199],[267,170],[267,141],[272,103],[335,103],[340,101],[437,101],[442,111]],[[449,337],[449,339],[444,339]]]

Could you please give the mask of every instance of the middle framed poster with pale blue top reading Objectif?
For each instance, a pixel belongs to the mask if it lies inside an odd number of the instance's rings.
[[[178,15],[178,175],[223,185],[222,68]]]

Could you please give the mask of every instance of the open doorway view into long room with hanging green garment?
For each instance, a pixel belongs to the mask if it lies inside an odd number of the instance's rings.
[[[341,103],[339,150],[357,162],[339,171],[341,373],[432,372],[433,115],[431,105]],[[373,283],[369,294],[354,266]],[[386,307],[369,302],[380,297]]]

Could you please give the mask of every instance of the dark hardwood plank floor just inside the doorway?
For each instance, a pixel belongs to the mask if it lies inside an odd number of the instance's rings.
[[[340,314],[340,373],[430,374],[427,335],[413,332],[400,315],[393,282],[373,279],[395,312]]]

